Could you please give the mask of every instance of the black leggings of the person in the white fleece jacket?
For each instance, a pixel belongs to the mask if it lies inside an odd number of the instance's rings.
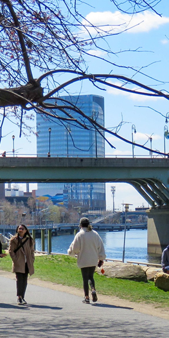
[[[84,295],[89,296],[89,284],[92,288],[95,289],[95,281],[93,278],[94,272],[95,272],[95,266],[89,266],[86,268],[81,268],[81,274],[83,278],[83,289],[84,289]]]

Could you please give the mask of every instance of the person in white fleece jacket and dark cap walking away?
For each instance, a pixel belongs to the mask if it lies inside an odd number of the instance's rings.
[[[84,299],[82,302],[90,304],[89,284],[92,290],[92,300],[95,302],[97,295],[93,275],[98,261],[101,266],[106,255],[102,239],[96,231],[92,230],[89,219],[82,217],[79,226],[80,231],[71,243],[68,255],[77,255],[77,265],[81,269],[83,278]]]

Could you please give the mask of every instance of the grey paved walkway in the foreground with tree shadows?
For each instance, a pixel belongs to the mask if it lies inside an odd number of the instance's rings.
[[[136,312],[132,307],[82,304],[81,297],[28,285],[29,305],[16,304],[16,281],[0,276],[0,337],[161,338],[169,320]]]

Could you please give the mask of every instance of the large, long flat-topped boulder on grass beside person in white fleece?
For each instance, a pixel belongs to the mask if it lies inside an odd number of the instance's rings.
[[[146,273],[139,265],[120,262],[104,262],[103,269],[104,275],[110,278],[147,282]],[[101,268],[97,267],[97,272],[102,274]]]

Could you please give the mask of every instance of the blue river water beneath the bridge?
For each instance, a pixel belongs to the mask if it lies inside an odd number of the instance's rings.
[[[103,240],[106,257],[122,260],[124,231],[98,232]],[[74,235],[52,237],[52,252],[67,254]],[[36,250],[41,251],[41,239],[36,239]],[[45,251],[47,242],[45,240]],[[125,262],[161,263],[161,257],[147,254],[147,230],[129,230],[125,239]]]

